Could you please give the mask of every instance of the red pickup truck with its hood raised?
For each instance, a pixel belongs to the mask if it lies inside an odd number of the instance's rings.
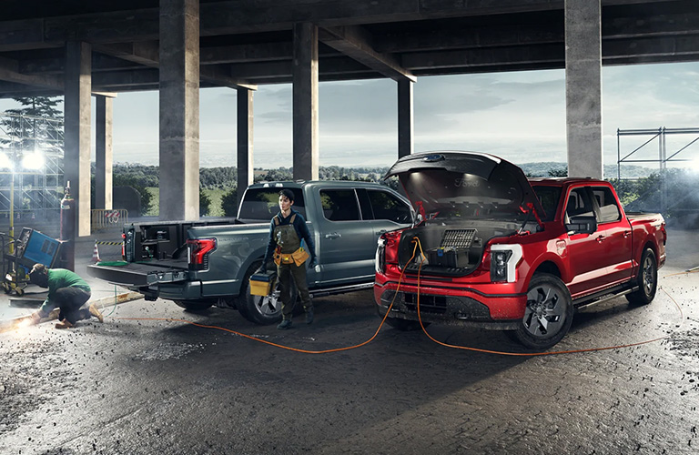
[[[570,329],[573,308],[655,296],[664,218],[624,213],[609,182],[527,179],[473,152],[403,157],[391,176],[418,212],[377,249],[374,298],[397,329],[421,319],[511,330],[526,347],[549,349]]]

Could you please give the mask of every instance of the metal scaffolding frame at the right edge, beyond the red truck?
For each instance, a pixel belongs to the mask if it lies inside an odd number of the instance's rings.
[[[648,137],[640,146],[633,148],[629,153],[622,157],[622,137],[623,136],[646,136]],[[674,151],[668,152],[667,139],[668,136],[676,137],[678,144],[671,147]],[[687,138],[687,136],[689,138]],[[657,158],[648,157],[647,155],[639,158],[639,155],[647,153],[650,147],[653,147],[657,140]],[[697,212],[696,208],[680,207],[684,204],[685,199],[692,198],[694,194],[693,188],[687,188],[687,195],[674,199],[672,204],[668,204],[667,200],[667,167],[673,163],[692,163],[697,162],[697,158],[686,157],[687,153],[699,151],[699,128],[666,128],[660,127],[657,129],[617,129],[616,130],[616,155],[617,155],[617,178],[622,180],[622,163],[656,163],[660,175],[659,188],[659,207],[657,209],[661,213],[665,213],[668,209],[676,212]],[[693,147],[694,146],[694,147]],[[625,153],[625,152],[624,152]],[[654,152],[650,152],[651,156]],[[668,155],[669,153],[669,155]],[[684,153],[684,157],[678,157]],[[634,157],[635,156],[635,157]]]

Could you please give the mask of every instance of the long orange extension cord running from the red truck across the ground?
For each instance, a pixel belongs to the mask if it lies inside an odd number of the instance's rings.
[[[415,258],[415,254],[417,253],[417,249],[420,248],[420,256],[424,258],[424,253],[422,252],[422,245],[420,244],[420,238],[413,238],[412,243],[415,244],[415,247],[412,249],[412,256],[410,257],[410,260],[408,262],[411,262],[413,258]],[[557,351],[552,351],[552,352],[505,352],[505,351],[500,351],[500,350],[491,350],[491,349],[479,349],[479,348],[470,348],[467,346],[458,346],[458,345],[452,345],[449,343],[444,343],[443,341],[440,341],[439,339],[434,339],[430,335],[430,333],[425,329],[424,324],[422,323],[422,318],[420,317],[420,270],[422,268],[422,264],[420,262],[420,267],[418,268],[418,301],[417,301],[417,309],[418,309],[418,320],[420,321],[420,328],[422,331],[427,335],[427,338],[431,339],[435,343],[447,347],[447,348],[452,348],[452,349],[462,349],[462,350],[471,350],[474,352],[484,352],[487,354],[496,354],[500,356],[518,356],[518,357],[534,357],[534,356],[553,356],[553,355],[559,355],[559,354],[577,354],[580,352],[594,352],[594,351],[599,351],[599,350],[609,350],[609,349],[622,349],[622,348],[631,348],[633,346],[640,346],[643,344],[648,344],[648,343],[653,343],[655,341],[660,341],[662,339],[666,339],[670,337],[674,333],[674,331],[667,333],[663,337],[658,337],[655,339],[647,339],[644,341],[639,341],[637,343],[628,343],[628,344],[623,344],[623,345],[617,345],[617,346],[606,346],[603,348],[590,348],[590,349],[571,349],[571,350],[557,350]],[[673,275],[668,275],[668,277],[673,277],[674,275],[682,275],[684,273],[688,272],[680,272],[680,273],[675,273]],[[403,279],[403,271],[400,272],[400,278],[398,279],[398,288],[396,288],[396,293],[393,296],[393,299],[390,302],[390,306],[388,310],[386,311],[386,314],[384,315],[383,319],[381,319],[381,323],[379,326],[379,329],[376,329],[376,332],[371,336],[370,339],[367,339],[366,341],[356,344],[353,346],[347,346],[344,348],[336,348],[336,349],[323,349],[323,350],[308,350],[308,349],[298,349],[298,348],[292,348],[290,346],[284,346],[279,343],[273,343],[271,341],[268,341],[266,339],[258,339],[256,337],[251,337],[250,335],[246,335],[245,333],[238,332],[236,330],[231,330],[231,329],[226,329],[223,327],[218,327],[218,326],[208,326],[205,324],[198,324],[197,322],[192,322],[187,319],[173,319],[173,318],[115,318],[115,319],[121,319],[121,320],[163,320],[167,322],[185,322],[187,324],[191,324],[193,326],[202,328],[202,329],[218,329],[218,330],[223,330],[228,333],[232,333],[234,335],[239,335],[240,337],[244,337],[246,339],[251,339],[253,341],[258,341],[259,343],[264,343],[269,346],[274,346],[275,348],[280,348],[280,349],[287,349],[291,350],[294,352],[301,352],[304,354],[329,354],[330,352],[340,352],[343,350],[350,350],[350,349],[357,349],[361,348],[362,346],[368,345],[371,341],[373,341],[377,335],[379,335],[380,329],[383,327],[383,323],[386,322],[386,318],[388,317],[390,313],[390,308],[393,307],[393,302],[395,301],[396,297],[398,296],[398,290],[400,289],[400,283],[402,282]],[[669,297],[673,303],[674,306],[678,309],[680,313],[680,325],[678,326],[678,329],[682,327],[682,323],[684,322],[684,314],[682,312],[682,308],[677,304],[675,299],[667,293],[667,291],[664,290],[664,293]]]

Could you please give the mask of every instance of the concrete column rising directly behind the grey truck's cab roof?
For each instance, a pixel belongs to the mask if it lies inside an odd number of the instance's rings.
[[[318,27],[294,24],[294,179],[318,179]]]

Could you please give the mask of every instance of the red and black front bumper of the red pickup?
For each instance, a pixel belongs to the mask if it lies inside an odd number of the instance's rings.
[[[517,329],[524,317],[526,294],[483,295],[470,288],[436,288],[397,283],[374,284],[374,300],[383,316],[390,318],[481,327]],[[391,306],[392,303],[392,306]]]

